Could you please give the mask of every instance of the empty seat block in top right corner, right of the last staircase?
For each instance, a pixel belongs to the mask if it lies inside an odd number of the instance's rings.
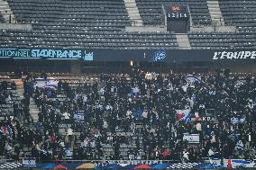
[[[225,0],[219,1],[226,24],[254,26],[256,22],[256,1]]]

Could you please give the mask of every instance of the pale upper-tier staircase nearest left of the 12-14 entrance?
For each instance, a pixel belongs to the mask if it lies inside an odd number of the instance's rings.
[[[143,26],[142,17],[139,13],[138,6],[135,0],[124,0],[130,21],[133,26]]]

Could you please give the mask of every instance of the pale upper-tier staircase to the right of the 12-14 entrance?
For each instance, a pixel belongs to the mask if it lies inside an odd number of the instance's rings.
[[[218,0],[207,1],[208,9],[211,15],[211,19],[216,23],[216,26],[224,25],[223,13],[220,9],[220,4]]]

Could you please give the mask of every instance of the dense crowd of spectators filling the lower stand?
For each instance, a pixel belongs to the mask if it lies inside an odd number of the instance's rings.
[[[230,76],[227,69],[197,76],[200,82],[189,84],[185,74],[133,69],[129,76],[103,74],[100,81],[76,88],[59,81],[58,90],[32,90],[31,77],[24,88],[40,108],[38,122],[32,128],[32,123],[7,121],[0,138],[6,137],[8,126],[15,127],[13,144],[32,148],[32,157],[44,161],[103,159],[106,145],[114,149],[108,158],[123,159],[121,145],[129,148],[133,140],[130,159],[254,158],[256,80]],[[66,99],[56,100],[63,93]],[[207,109],[215,111],[215,119],[197,119],[206,116]],[[188,121],[178,120],[177,110],[189,110]],[[65,135],[59,131],[63,123],[69,125]],[[116,135],[118,131],[130,135]],[[184,133],[199,134],[199,144],[183,140]]]

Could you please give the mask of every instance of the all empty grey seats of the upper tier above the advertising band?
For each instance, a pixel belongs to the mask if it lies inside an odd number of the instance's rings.
[[[194,24],[211,23],[206,0],[136,0],[145,24],[160,24],[161,4],[188,4]],[[17,20],[32,31],[0,31],[0,47],[76,49],[178,49],[171,32],[124,32],[130,25],[123,0],[8,0]],[[190,33],[193,49],[255,48],[255,2],[220,1],[224,22],[240,33]],[[244,23],[244,24],[243,24]]]

